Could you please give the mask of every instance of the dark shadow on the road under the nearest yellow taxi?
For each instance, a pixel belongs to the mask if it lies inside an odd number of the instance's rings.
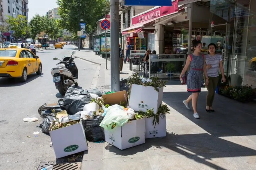
[[[41,75],[37,75],[36,73],[33,73],[31,75],[28,75],[26,82],[20,82],[19,78],[13,78],[13,77],[2,77],[0,78],[0,87],[16,87],[16,86],[22,86],[23,84],[29,83],[33,81],[34,79],[43,76],[43,73]]]

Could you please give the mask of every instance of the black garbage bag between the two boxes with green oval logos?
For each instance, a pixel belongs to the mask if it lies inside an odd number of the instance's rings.
[[[105,140],[104,128],[100,127],[102,120],[102,116],[95,116],[93,119],[82,120],[85,136],[88,141],[97,142]]]

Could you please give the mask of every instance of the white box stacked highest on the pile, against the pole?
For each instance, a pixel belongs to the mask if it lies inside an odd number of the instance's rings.
[[[154,87],[141,86],[132,84],[130,93],[129,106],[135,111],[146,112],[147,109],[154,108],[154,113],[157,113],[159,106],[163,101],[163,87],[157,92]]]

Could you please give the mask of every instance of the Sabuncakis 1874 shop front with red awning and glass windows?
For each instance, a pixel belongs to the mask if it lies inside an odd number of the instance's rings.
[[[179,79],[186,57],[191,53],[192,40],[201,40],[204,54],[208,52],[208,44],[215,43],[229,83],[255,88],[256,1],[173,0],[172,4],[133,16],[132,25],[123,29],[122,34],[126,39],[134,37],[138,41],[142,34],[148,37],[147,48],[156,50],[157,54],[173,55],[171,79],[175,76]],[[167,73],[163,73],[165,75]]]

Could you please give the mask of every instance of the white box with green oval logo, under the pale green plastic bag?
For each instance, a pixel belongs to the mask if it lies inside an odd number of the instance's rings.
[[[132,120],[112,131],[105,129],[105,141],[123,150],[145,143],[145,118]]]

